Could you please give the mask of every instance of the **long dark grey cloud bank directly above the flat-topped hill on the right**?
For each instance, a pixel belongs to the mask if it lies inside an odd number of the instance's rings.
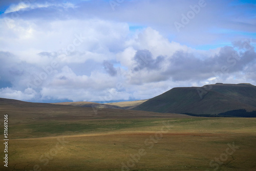
[[[221,77],[239,71],[246,72],[246,67],[256,61],[255,51],[238,53],[233,47],[221,48],[219,54],[205,59],[197,58],[191,53],[176,52],[169,60],[165,75],[173,80],[199,81],[210,77]]]

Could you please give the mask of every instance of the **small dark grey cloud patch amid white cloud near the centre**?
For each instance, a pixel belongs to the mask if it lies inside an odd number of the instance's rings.
[[[134,71],[139,71],[144,68],[147,70],[156,70],[160,68],[164,57],[158,56],[156,59],[153,59],[150,51],[138,50],[134,56],[134,60],[137,63],[137,66],[134,67]]]

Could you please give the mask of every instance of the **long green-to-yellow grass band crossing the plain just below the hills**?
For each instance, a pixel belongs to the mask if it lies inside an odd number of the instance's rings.
[[[156,131],[168,121],[173,132],[228,133],[247,132],[255,127],[255,118],[173,118],[173,119],[96,119],[84,121],[48,121],[10,126],[13,139],[56,135],[89,134],[115,131]],[[246,122],[245,122],[246,121]],[[252,133],[256,133],[255,131]]]

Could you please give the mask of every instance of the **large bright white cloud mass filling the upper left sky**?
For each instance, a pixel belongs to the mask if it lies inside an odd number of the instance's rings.
[[[37,55],[40,52],[56,52],[63,62],[113,59],[112,52],[123,48],[129,33],[127,24],[101,19],[52,22],[16,19],[11,28],[3,18],[0,23],[3,25],[0,45],[29,63],[44,63],[45,59]]]

